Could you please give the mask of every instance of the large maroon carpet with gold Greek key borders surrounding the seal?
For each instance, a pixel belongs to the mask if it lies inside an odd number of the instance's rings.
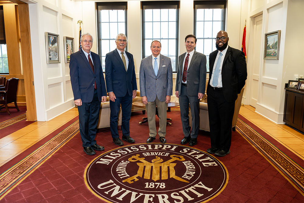
[[[135,144],[145,143],[148,137],[148,124],[138,124],[141,117],[139,112],[133,113],[130,121]],[[167,126],[167,143],[180,144],[179,111],[169,112],[168,117],[172,125]],[[304,202],[303,160],[244,117],[239,118],[231,153],[216,157],[226,166],[228,184],[210,202]],[[85,185],[84,171],[93,159],[118,146],[112,143],[109,128],[100,129],[96,140],[105,150],[85,155],[78,120],[68,122],[1,167],[1,202],[105,202]],[[154,142],[159,142],[158,138]],[[209,143],[209,133],[200,131],[194,148],[206,151]]]

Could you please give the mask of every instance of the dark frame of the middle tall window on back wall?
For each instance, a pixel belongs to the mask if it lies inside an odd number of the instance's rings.
[[[146,57],[145,54],[145,9],[176,9],[176,35],[175,35],[175,70],[172,70],[173,73],[177,72],[178,66],[178,36],[179,36],[179,1],[142,1],[141,2],[142,10],[142,58]],[[161,20],[160,20],[161,22]],[[149,39],[149,38],[147,38]],[[166,39],[166,38],[165,38]],[[169,36],[168,36],[168,39]],[[173,38],[171,38],[173,39]],[[160,38],[161,40],[161,38]],[[152,41],[151,41],[152,42]],[[151,53],[150,53],[151,54]]]

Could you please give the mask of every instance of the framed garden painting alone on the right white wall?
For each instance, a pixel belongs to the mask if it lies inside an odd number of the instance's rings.
[[[265,34],[264,59],[279,59],[281,30]]]

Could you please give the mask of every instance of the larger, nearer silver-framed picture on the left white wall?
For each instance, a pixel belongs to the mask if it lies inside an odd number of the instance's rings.
[[[47,63],[60,63],[59,35],[45,32]]]

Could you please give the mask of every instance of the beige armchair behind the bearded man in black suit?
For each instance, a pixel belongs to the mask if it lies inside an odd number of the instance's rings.
[[[235,131],[235,126],[237,124],[237,117],[239,115],[240,107],[242,104],[242,97],[244,93],[244,87],[241,90],[240,94],[237,95],[237,100],[235,101],[234,106],[234,114],[233,114],[233,120],[232,120],[232,130]],[[206,94],[204,98],[199,103],[199,129],[204,131],[210,131],[209,128],[209,116],[208,116],[208,106],[206,103]],[[189,122],[191,126],[192,116],[191,111],[189,111]]]

